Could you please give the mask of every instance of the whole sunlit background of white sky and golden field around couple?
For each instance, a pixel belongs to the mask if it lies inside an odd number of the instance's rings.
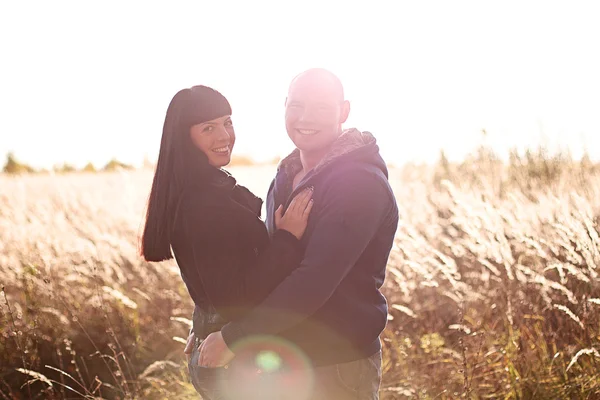
[[[343,81],[399,205],[381,399],[600,398],[598,20],[594,1],[0,0],[0,399],[197,398],[179,269],[139,254],[167,106],[221,91],[228,169],[264,198],[312,67]]]

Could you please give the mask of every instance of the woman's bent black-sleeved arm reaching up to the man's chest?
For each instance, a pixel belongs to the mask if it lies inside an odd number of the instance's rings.
[[[244,258],[235,229],[239,221],[221,205],[190,212],[184,233],[193,254],[194,269],[217,312],[234,319],[240,306],[263,300],[298,265],[301,250],[298,239],[278,230],[270,244],[256,258]]]

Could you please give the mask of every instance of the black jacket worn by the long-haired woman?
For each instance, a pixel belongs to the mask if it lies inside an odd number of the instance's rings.
[[[262,301],[301,260],[291,233],[280,230],[269,238],[261,199],[224,171],[209,176],[181,195],[171,245],[196,305],[194,332],[200,337]]]

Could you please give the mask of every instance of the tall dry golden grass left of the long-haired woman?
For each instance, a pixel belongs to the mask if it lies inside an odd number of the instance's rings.
[[[0,178],[0,396],[189,391],[177,341],[189,295],[176,265],[138,256],[151,178]]]

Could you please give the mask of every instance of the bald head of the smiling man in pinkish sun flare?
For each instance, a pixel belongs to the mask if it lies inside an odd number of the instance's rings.
[[[288,136],[304,152],[328,148],[340,135],[350,106],[327,77],[300,76],[285,103]]]

